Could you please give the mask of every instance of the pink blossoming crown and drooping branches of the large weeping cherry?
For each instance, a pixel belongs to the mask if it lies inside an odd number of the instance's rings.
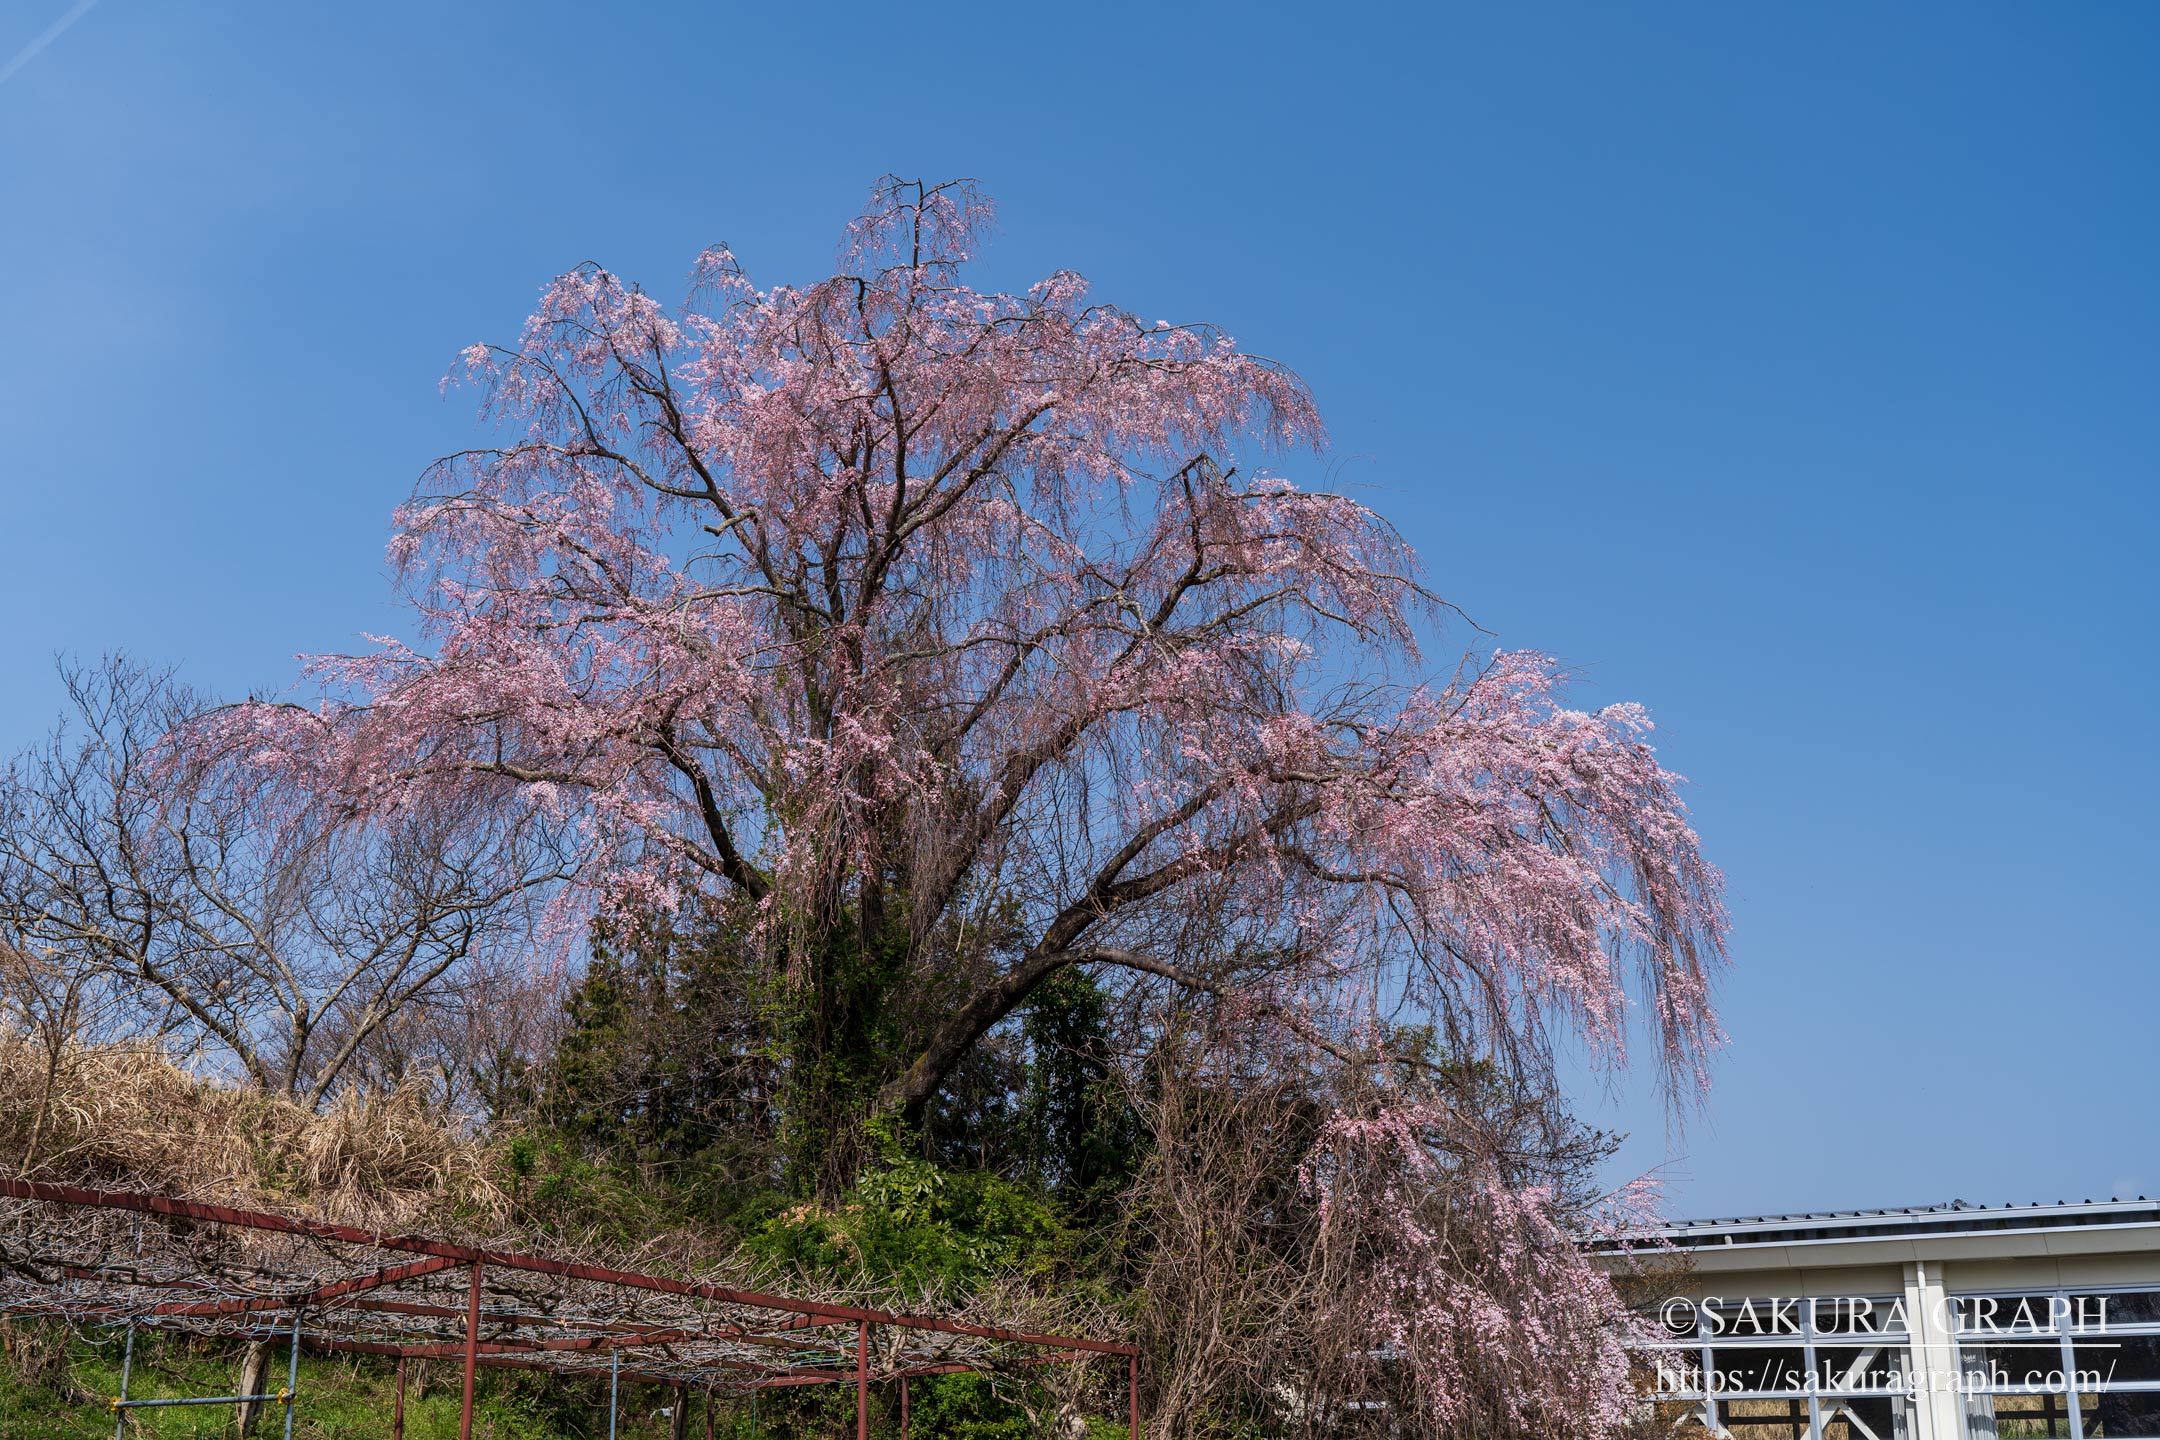
[[[499,440],[397,512],[417,646],[318,663],[335,786],[546,810],[581,829],[566,907],[708,889],[780,974],[842,918],[901,937],[966,982],[901,1110],[1065,965],[1315,1051],[1404,1010],[1523,1067],[1646,1030],[1702,1084],[1722,883],[1646,715],[1572,708],[1534,652],[1436,674],[1402,538],[1257,468],[1324,445],[1305,382],[1067,270],[970,289],[989,222],[972,184],[888,179],[814,285],[713,250],[663,307],[581,266],[467,350]],[[272,753],[285,715],[229,723]],[[1534,1334],[1607,1386],[1609,1300],[1547,1198],[1495,1181],[1475,1235],[1423,1235],[1417,1146],[1361,1125],[1326,1144],[1393,1146],[1410,1187],[1395,1339]]]

